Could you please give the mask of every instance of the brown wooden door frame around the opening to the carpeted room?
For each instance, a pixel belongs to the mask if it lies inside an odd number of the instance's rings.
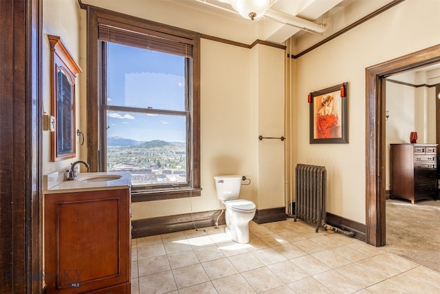
[[[366,242],[386,244],[385,78],[440,63],[440,45],[366,68]]]

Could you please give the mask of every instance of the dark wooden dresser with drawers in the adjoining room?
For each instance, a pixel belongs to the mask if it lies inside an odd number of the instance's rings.
[[[437,144],[391,144],[391,199],[437,199]]]

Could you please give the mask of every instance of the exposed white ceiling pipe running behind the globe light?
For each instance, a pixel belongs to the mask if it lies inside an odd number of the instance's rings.
[[[230,10],[228,8],[217,6],[216,4],[209,3],[206,0],[195,0],[195,1],[203,3],[208,6],[212,6],[214,8],[228,11],[228,12],[231,12],[234,14],[239,14],[235,10]],[[221,1],[223,3],[228,3],[225,0],[219,0],[219,1]],[[273,9],[267,10],[267,12],[265,12],[265,14],[264,14],[264,17],[267,19],[271,19],[272,21],[276,21],[278,23],[292,25],[295,28],[299,28],[299,29],[305,30],[307,32],[314,32],[317,34],[322,34],[323,32],[325,32],[325,30],[327,30],[327,27],[328,27],[327,23],[316,23],[314,21],[309,21],[307,19],[295,17],[292,14],[287,14],[285,12],[281,12],[281,11],[273,10]]]

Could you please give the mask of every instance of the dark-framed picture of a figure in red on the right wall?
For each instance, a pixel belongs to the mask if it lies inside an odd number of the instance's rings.
[[[346,82],[309,94],[310,144],[349,143],[348,85]]]

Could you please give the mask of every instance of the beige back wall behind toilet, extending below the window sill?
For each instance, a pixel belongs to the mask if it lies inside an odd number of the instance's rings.
[[[251,179],[243,199],[283,207],[284,50],[201,39],[201,197],[133,203],[133,220],[221,209],[214,176]],[[273,132],[273,133],[272,133]],[[276,134],[276,135],[273,135]]]

